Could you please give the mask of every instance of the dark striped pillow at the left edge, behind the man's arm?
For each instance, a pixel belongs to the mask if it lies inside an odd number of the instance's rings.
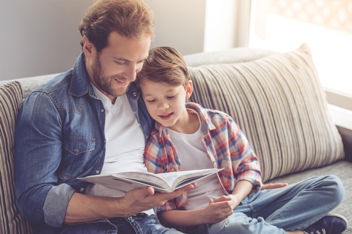
[[[20,82],[0,86],[0,233],[33,233],[17,208],[13,165],[13,133],[23,94]]]

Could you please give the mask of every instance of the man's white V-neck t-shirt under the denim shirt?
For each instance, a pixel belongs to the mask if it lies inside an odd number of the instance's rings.
[[[105,139],[106,152],[101,174],[120,172],[147,172],[143,153],[145,148],[144,135],[136,115],[134,114],[127,95],[117,97],[114,104],[93,84],[93,89],[105,108]],[[126,193],[106,188],[101,185],[90,185],[87,195],[121,197]],[[153,209],[144,211],[154,214]]]

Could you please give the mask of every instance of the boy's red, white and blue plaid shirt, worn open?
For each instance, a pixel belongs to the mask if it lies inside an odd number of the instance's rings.
[[[187,103],[186,108],[194,109],[200,116],[203,145],[214,168],[225,168],[218,173],[225,194],[231,193],[240,180],[250,181],[254,186],[252,192],[259,191],[262,172],[258,158],[233,119],[224,112],[206,109],[193,102]],[[145,147],[144,162],[148,171],[155,174],[182,171],[169,130],[158,122]],[[158,211],[183,209],[186,199],[187,193],[184,193],[167,201]]]

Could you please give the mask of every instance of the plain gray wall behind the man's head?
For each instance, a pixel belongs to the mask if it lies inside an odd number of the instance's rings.
[[[156,16],[151,47],[203,51],[205,0],[146,0]],[[1,0],[0,80],[65,72],[81,52],[78,24],[90,0]]]

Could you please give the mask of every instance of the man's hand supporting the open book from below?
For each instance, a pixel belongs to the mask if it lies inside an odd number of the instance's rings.
[[[123,207],[126,211],[125,216],[131,216],[154,207],[162,206],[166,201],[177,198],[195,186],[196,183],[191,183],[171,193],[155,193],[152,187],[132,189],[122,198]]]

